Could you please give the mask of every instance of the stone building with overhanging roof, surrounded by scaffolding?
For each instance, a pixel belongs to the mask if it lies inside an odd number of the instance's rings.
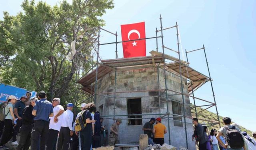
[[[122,124],[119,126],[121,144],[138,144],[139,134],[143,134],[143,125],[152,117],[162,117],[162,123],[168,131],[167,114],[169,112],[170,132],[165,134],[165,142],[169,144],[170,133],[170,142],[173,146],[186,147],[187,132],[188,148],[195,150],[195,144],[191,140],[193,125],[188,96],[191,92],[191,85],[186,79],[196,81],[206,80],[207,77],[177,58],[168,55],[163,57],[162,53],[155,51],[150,53],[152,56],[101,61],[102,64],[98,67],[97,73],[97,94],[94,95],[96,96],[96,108],[102,116],[109,118],[104,120],[104,125],[109,131],[114,122],[113,116],[119,115],[115,118],[122,118]],[[164,58],[174,62],[164,65]],[[179,62],[182,64],[181,70],[187,70],[186,74],[182,74],[182,84]],[[166,81],[164,69],[166,69]],[[94,94],[95,80],[96,70],[81,78],[78,83],[83,85],[84,92]],[[168,90],[165,90],[166,86]],[[196,89],[201,86],[201,83],[195,82],[192,86]],[[181,88],[184,93],[184,110]],[[142,115],[134,116],[134,114]],[[184,117],[177,115],[186,116],[186,132]]]

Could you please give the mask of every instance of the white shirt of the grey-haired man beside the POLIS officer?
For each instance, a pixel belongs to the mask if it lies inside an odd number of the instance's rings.
[[[58,122],[56,122],[56,123],[54,122],[54,117],[60,110],[64,110],[64,108],[61,105],[57,105],[53,108],[53,117],[49,117],[51,119],[50,124],[49,124],[49,129],[60,131],[60,126],[61,126],[61,123],[62,123],[63,114],[61,114],[60,116],[57,117]]]

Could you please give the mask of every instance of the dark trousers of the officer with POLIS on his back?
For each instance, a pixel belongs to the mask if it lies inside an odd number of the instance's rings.
[[[49,122],[45,120],[34,120],[34,127],[31,132],[31,150],[38,149],[40,140],[40,150],[45,150],[46,140],[49,133]]]

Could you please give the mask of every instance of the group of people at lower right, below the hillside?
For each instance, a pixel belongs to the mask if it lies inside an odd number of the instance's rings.
[[[192,141],[196,141],[199,150],[256,150],[256,132],[252,137],[243,131],[241,132],[238,125],[231,124],[229,117],[224,117],[224,126],[218,132],[212,129],[210,132],[207,126],[198,123],[197,118],[192,119],[194,124],[194,134]]]

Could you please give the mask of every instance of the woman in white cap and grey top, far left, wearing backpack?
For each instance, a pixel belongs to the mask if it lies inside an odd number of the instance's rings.
[[[9,96],[6,106],[4,106],[4,132],[0,142],[0,149],[9,149],[5,144],[12,138],[13,135],[13,122],[15,116],[13,113],[14,104],[16,103],[16,96]]]

